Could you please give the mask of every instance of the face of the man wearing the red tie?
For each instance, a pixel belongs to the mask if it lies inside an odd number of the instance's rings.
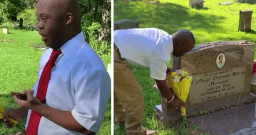
[[[37,3],[37,27],[45,45],[58,49],[64,38],[64,24],[58,7],[51,0],[39,0]]]

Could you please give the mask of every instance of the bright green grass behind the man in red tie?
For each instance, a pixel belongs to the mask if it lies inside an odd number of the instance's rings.
[[[0,104],[4,108],[18,108],[11,96],[11,91],[31,89],[37,80],[39,60],[43,50],[35,50],[32,44],[42,45],[37,31],[9,30],[10,34],[3,34],[0,30]],[[100,56],[107,67],[111,56]],[[25,124],[25,120],[21,122]],[[8,135],[18,128],[6,128],[0,123],[0,135]],[[99,131],[99,135],[111,133],[111,99]]]

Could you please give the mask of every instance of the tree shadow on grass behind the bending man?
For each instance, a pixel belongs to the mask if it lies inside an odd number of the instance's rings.
[[[205,8],[208,9],[208,8]],[[182,27],[190,30],[201,29],[209,33],[214,29],[223,31],[219,26],[223,16],[201,14],[188,11],[190,8],[173,4],[146,4],[146,2],[114,2],[114,21],[133,19],[140,22],[140,27],[155,27],[174,33]]]

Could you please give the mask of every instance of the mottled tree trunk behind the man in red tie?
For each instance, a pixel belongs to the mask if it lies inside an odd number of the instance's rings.
[[[99,30],[99,41],[109,40],[109,29],[108,29],[108,21],[111,21],[111,0],[104,0],[103,2],[103,11],[101,18],[101,28]]]

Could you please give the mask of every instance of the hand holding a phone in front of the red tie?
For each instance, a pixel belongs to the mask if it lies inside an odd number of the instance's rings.
[[[27,95],[27,100],[19,99],[18,96],[14,95],[14,101],[19,104],[21,107],[25,107],[31,110],[43,104],[38,98],[33,97],[34,91],[28,90],[24,91],[23,94]]]

